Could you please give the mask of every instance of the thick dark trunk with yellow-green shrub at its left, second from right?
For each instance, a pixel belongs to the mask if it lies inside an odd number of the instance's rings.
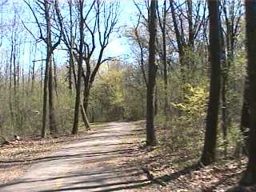
[[[202,150],[201,162],[207,166],[215,160],[218,106],[221,89],[221,41],[219,1],[208,0],[210,14],[210,96],[206,117],[205,143]]]

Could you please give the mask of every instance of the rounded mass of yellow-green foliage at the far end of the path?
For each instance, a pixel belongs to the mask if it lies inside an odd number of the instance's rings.
[[[135,71],[136,72],[136,71]],[[132,68],[111,63],[94,82],[90,94],[90,119],[138,120],[145,111],[145,85],[137,82]]]

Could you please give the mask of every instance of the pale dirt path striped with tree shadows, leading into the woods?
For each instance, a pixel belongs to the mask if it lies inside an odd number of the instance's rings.
[[[1,192],[136,191],[149,181],[139,167],[120,162],[134,151],[126,138],[134,123],[110,122],[85,138],[40,159],[22,178],[0,186]]]

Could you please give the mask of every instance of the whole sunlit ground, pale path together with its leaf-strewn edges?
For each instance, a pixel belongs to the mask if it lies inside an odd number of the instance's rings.
[[[236,186],[246,158],[198,167],[198,157],[186,150],[174,154],[166,146],[144,145],[144,122],[11,142],[0,147],[0,191],[256,191]]]

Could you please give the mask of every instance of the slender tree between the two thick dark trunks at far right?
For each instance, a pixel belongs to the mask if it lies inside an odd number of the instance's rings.
[[[230,115],[230,67],[234,62],[234,50],[241,34],[243,15],[241,0],[222,0],[222,132],[224,148],[227,148],[227,134],[231,123]]]

